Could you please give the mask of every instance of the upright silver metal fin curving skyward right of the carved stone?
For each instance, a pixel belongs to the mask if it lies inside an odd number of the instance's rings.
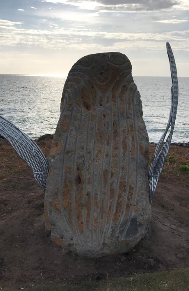
[[[174,56],[172,53],[171,46],[169,42],[166,43],[167,47],[167,54],[169,57],[169,63],[170,63],[170,70],[171,70],[171,78],[172,78],[172,87],[171,87],[171,110],[169,115],[169,120],[167,123],[167,127],[165,129],[164,134],[161,136],[161,139],[159,140],[156,150],[154,152],[154,157],[151,162],[151,166],[149,169],[149,195],[150,195],[150,201],[154,195],[154,191],[156,190],[157,182],[159,179],[159,176],[161,174],[161,171],[163,169],[163,165],[165,163],[167,153],[169,151],[172,134],[174,130],[174,124],[176,119],[176,111],[177,111],[177,104],[178,104],[178,96],[179,96],[179,86],[178,86],[178,79],[177,79],[177,70],[176,70],[176,64],[174,60]],[[167,139],[165,140],[165,137],[168,133]]]

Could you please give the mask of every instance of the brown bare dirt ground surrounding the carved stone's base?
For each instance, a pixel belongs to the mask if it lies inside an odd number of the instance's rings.
[[[50,139],[38,142],[48,155]],[[151,156],[154,145],[150,146]],[[44,228],[44,192],[33,173],[7,141],[0,141],[0,286],[30,288],[47,282],[79,282],[90,278],[189,267],[189,149],[172,146],[153,199],[145,238],[128,254],[81,258],[66,253]]]

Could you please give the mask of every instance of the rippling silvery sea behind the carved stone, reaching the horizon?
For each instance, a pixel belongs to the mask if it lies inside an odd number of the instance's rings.
[[[158,142],[169,118],[171,77],[133,77],[141,95],[150,142]],[[0,115],[32,139],[53,134],[60,116],[65,78],[0,74]],[[179,78],[179,103],[172,142],[189,142],[189,77]]]

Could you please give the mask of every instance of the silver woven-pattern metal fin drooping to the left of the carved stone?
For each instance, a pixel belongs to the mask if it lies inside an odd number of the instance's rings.
[[[0,116],[0,134],[11,143],[18,155],[32,168],[35,180],[45,190],[49,164],[38,145],[2,116]]]

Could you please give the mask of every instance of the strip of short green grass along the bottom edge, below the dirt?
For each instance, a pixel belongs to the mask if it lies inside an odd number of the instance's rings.
[[[18,290],[20,290],[19,287]],[[134,275],[101,281],[85,281],[76,284],[43,284],[23,290],[30,291],[188,291],[189,269],[170,272]],[[8,289],[2,289],[8,291]],[[17,291],[17,290],[14,290]]]

